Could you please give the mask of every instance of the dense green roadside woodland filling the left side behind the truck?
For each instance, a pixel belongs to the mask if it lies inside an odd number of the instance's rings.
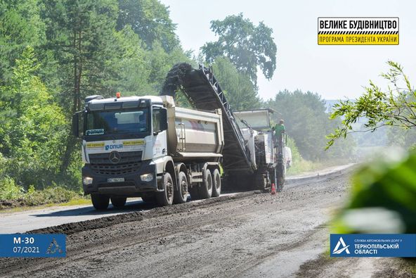
[[[90,94],[157,94],[190,61],[174,31],[157,0],[1,1],[1,186],[79,191],[72,113]]]

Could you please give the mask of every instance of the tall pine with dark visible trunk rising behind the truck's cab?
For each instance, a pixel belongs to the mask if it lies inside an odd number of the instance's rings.
[[[112,0],[43,3],[41,15],[47,26],[46,49],[53,51],[58,62],[62,88],[60,104],[69,115],[82,108],[85,96],[109,95],[115,91],[105,85],[111,84],[109,80],[117,79],[110,63],[116,53],[117,12],[117,3]],[[68,135],[61,170],[66,170],[70,164],[75,143]]]

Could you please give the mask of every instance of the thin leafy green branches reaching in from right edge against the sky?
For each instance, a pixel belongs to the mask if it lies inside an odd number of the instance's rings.
[[[365,93],[358,99],[335,104],[331,118],[342,118],[342,122],[328,135],[327,148],[336,139],[356,132],[353,125],[360,118],[367,119],[364,127],[372,132],[383,126],[403,129],[416,127],[416,91],[410,85],[401,65],[393,61],[387,63],[390,66],[389,72],[381,75],[391,84],[386,91],[370,80],[370,86],[365,87]]]

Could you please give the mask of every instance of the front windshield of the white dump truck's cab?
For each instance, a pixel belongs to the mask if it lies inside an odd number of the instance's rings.
[[[92,111],[86,114],[85,135],[149,132],[148,109]]]

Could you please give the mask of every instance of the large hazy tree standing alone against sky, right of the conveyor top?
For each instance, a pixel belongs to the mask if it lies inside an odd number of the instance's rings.
[[[257,67],[268,80],[273,77],[277,47],[270,27],[263,22],[256,26],[240,13],[229,15],[224,20],[212,20],[211,30],[219,39],[202,46],[207,63],[213,63],[218,56],[226,56],[255,85]]]

